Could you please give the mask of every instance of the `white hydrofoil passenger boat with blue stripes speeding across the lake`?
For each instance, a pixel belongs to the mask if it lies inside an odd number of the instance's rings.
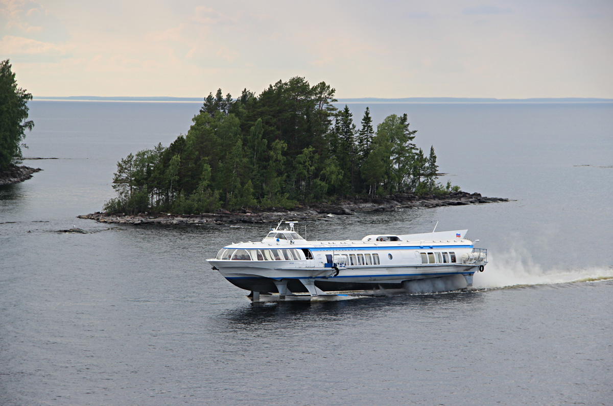
[[[468,230],[307,241],[294,231],[294,222],[281,230],[282,223],[262,241],[230,244],[207,261],[232,284],[251,290],[254,301],[260,293],[278,293],[279,300],[312,298],[455,275],[470,287],[473,274],[487,263],[486,250],[464,238]]]

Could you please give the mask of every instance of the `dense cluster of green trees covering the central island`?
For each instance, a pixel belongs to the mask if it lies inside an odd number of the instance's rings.
[[[105,211],[194,214],[458,190],[436,183],[434,148],[428,156],[417,148],[406,114],[387,116],[375,131],[367,108],[358,129],[347,106],[333,106],[334,94],[301,77],[259,96],[209,94],[186,135],[118,162],[118,196]]]

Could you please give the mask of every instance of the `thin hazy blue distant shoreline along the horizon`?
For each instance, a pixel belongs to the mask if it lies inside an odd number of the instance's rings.
[[[204,97],[124,97],[124,96],[40,96],[34,101],[64,102],[148,102],[148,103],[203,103]],[[378,97],[360,97],[356,99],[338,99],[336,103],[397,103],[397,104],[489,104],[489,103],[613,103],[613,99],[598,97],[558,97],[531,99],[493,99],[487,97],[404,97],[400,99],[383,99]]]

